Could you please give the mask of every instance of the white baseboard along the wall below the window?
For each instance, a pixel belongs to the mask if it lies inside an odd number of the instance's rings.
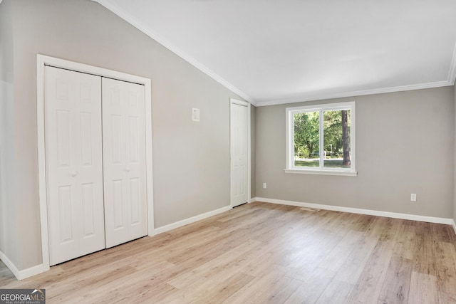
[[[264,197],[255,197],[254,201],[264,201],[265,203],[271,203],[271,204],[309,207],[309,208],[324,209],[324,210],[331,210],[331,211],[350,212],[350,213],[355,213],[355,214],[385,216],[385,217],[390,217],[393,219],[410,219],[411,221],[427,221],[429,223],[447,224],[447,225],[453,225],[453,228],[455,228],[455,233],[456,233],[455,221],[453,221],[453,219],[445,219],[442,217],[421,216],[421,215],[415,215],[415,214],[400,214],[400,213],[388,212],[388,211],[377,211],[377,210],[358,209],[358,208],[341,207],[341,206],[302,203],[300,201],[284,201],[282,199],[266,199]]]

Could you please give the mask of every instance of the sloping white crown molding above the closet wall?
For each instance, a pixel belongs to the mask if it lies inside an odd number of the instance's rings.
[[[202,63],[197,61],[195,58],[192,58],[192,56],[189,56],[187,53],[184,53],[183,51],[181,51],[179,48],[177,48],[177,46],[170,43],[170,41],[167,41],[167,39],[158,35],[154,31],[150,31],[150,29],[148,29],[146,26],[142,25],[142,23],[137,21],[133,16],[131,16],[130,14],[125,12],[123,9],[120,9],[120,7],[118,7],[117,5],[111,3],[108,0],[92,0],[92,1],[98,2],[98,4],[104,6],[109,11],[112,11],[114,14],[119,16],[121,19],[127,21],[132,26],[135,26],[135,28],[138,28],[138,30],[142,31],[142,33],[145,33],[147,36],[149,36],[153,40],[157,41],[157,43],[160,43],[162,46],[165,46],[165,48],[172,51],[172,53],[175,53],[177,56],[180,56],[180,58],[184,59],[191,65],[195,66],[195,68],[201,70],[203,73],[208,75],[210,78],[217,81],[217,83],[220,83],[225,88],[231,90],[233,93],[236,93],[241,98],[244,98],[244,100],[247,100],[249,103],[252,103],[252,105],[255,105],[254,101],[252,100],[252,98],[249,95],[242,92],[242,90],[239,90],[238,88],[236,88],[234,85],[229,83],[227,80],[224,80],[224,78],[222,78],[219,75],[217,75],[216,73],[214,73],[212,70],[207,68],[207,66],[203,65]]]

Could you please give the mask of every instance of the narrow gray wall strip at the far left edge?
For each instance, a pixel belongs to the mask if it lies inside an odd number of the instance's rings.
[[[0,9],[0,251],[19,262],[19,224],[14,199],[14,73],[11,3]]]

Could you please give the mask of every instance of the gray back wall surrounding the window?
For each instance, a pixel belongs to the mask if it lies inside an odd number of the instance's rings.
[[[451,218],[452,87],[257,108],[257,196]],[[284,173],[285,108],[356,101],[358,177]],[[261,184],[267,183],[263,189]],[[416,193],[416,202],[410,194]]]

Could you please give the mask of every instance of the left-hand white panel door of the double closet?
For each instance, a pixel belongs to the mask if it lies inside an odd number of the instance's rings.
[[[45,67],[50,264],[105,248],[101,78]]]

